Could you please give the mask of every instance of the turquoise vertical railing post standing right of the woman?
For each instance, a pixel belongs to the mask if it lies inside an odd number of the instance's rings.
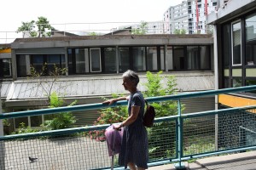
[[[183,156],[183,120],[181,117],[181,105],[180,105],[180,99],[177,100],[177,159],[178,162],[174,165],[176,169],[186,169],[186,167],[183,165],[183,162],[181,161],[181,158]]]

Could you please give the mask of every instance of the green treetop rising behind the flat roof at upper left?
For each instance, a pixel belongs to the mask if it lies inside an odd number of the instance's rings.
[[[22,32],[23,37],[25,37],[26,33],[28,33],[29,37],[50,37],[51,30],[55,29],[50,26],[49,20],[44,16],[38,17],[38,20],[32,20],[30,22],[21,22],[21,26],[16,31],[17,33]],[[37,29],[36,30],[36,26]]]

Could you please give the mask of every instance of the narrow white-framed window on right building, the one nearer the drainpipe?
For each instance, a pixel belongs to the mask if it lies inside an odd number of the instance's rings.
[[[241,65],[241,22],[232,24],[232,65]]]

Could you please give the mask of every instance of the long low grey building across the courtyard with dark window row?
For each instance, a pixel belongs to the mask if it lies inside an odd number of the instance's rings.
[[[211,35],[19,38],[10,44],[12,79],[2,77],[4,109],[9,112],[46,107],[45,94],[49,87],[67,103],[75,99],[78,105],[102,102],[102,97],[127,93],[122,87],[121,75],[128,69],[139,74],[142,91],[147,71],[163,71],[163,77],[175,76],[178,93],[213,89],[212,45]],[[45,63],[43,77],[28,78],[32,74],[31,66],[42,72]],[[68,70],[56,81],[50,77],[55,65]],[[185,99],[183,103],[188,104],[187,112],[207,111],[214,106],[214,98]],[[74,115],[78,117],[79,126],[92,124],[99,116],[97,111]],[[15,127],[20,122],[38,127],[44,122],[44,116],[13,120]]]

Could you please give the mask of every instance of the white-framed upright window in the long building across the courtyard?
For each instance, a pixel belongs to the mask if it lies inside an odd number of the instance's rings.
[[[102,71],[101,48],[90,48],[90,71]]]

